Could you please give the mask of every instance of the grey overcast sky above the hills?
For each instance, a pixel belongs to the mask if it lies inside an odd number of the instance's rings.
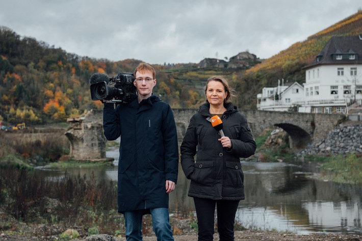
[[[0,0],[0,25],[91,58],[267,59],[362,8],[361,0]]]

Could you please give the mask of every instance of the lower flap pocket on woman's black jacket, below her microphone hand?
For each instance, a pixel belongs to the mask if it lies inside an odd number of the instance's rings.
[[[244,186],[244,173],[241,170],[241,163],[226,160],[225,165],[226,170],[223,185],[230,188],[240,188]]]

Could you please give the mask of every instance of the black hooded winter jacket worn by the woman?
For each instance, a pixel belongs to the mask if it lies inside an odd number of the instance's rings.
[[[223,148],[219,132],[207,119],[210,104],[200,106],[191,117],[185,138],[180,147],[181,165],[191,179],[189,196],[213,200],[244,200],[244,173],[240,157],[249,157],[256,149],[246,118],[232,103],[222,115],[223,132],[232,143]],[[196,155],[196,162],[194,156]]]

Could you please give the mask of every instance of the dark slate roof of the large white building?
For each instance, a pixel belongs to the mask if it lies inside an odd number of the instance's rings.
[[[337,60],[337,55],[342,59]],[[355,58],[350,59],[350,55]],[[331,37],[315,60],[304,68],[322,64],[362,64],[362,35]]]

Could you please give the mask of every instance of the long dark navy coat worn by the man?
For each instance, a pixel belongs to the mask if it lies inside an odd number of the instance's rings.
[[[170,106],[156,95],[138,103],[105,103],[107,140],[121,136],[118,163],[118,211],[167,207],[166,180],[176,183],[178,146]]]

